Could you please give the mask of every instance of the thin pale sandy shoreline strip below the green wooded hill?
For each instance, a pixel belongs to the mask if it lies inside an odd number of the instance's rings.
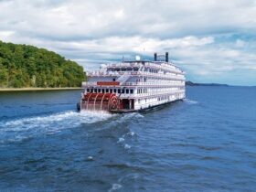
[[[65,90],[82,90],[80,87],[74,88],[0,88],[0,92],[4,91],[65,91]]]

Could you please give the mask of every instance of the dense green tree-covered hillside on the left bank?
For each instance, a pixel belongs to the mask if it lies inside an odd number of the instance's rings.
[[[44,48],[0,41],[0,88],[80,87],[83,68]]]

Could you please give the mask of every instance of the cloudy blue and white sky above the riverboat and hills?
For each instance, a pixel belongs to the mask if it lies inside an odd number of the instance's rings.
[[[256,0],[0,0],[0,40],[85,70],[169,52],[187,80],[256,85]]]

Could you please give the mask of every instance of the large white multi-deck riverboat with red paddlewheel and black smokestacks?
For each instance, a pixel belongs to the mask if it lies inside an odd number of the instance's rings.
[[[186,97],[185,72],[165,55],[102,64],[82,82],[78,110],[137,112]]]

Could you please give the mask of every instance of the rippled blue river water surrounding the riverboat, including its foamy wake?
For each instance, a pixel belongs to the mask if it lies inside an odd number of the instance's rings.
[[[256,191],[256,88],[188,87],[151,112],[80,91],[0,93],[1,191]]]

